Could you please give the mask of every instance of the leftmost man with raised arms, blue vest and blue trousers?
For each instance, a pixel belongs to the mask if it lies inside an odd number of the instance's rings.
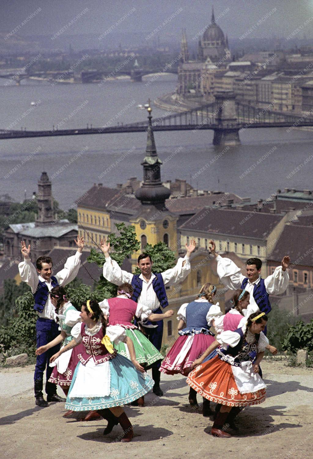
[[[52,276],[52,260],[50,257],[39,257],[36,261],[36,268],[30,260],[30,245],[27,247],[25,241],[22,241],[22,255],[24,261],[19,263],[18,269],[22,281],[26,282],[33,293],[35,300],[34,310],[38,313],[36,322],[36,344],[37,347],[44,346],[50,341],[59,336],[59,326],[55,322],[55,308],[51,303],[49,292],[57,285],[66,285],[71,280],[75,279],[80,267],[80,257],[82,249],[85,244],[83,238],[77,236],[76,245],[78,246],[77,252],[72,257],[68,257],[64,265],[64,269],[59,271],[55,276]],[[35,403],[40,407],[49,406],[48,402],[65,402],[56,393],[56,384],[48,381],[52,367],[49,366],[50,357],[57,353],[60,349],[60,344],[51,347],[47,352],[38,355],[35,366],[34,374],[34,391]],[[47,401],[43,397],[43,379],[44,370],[46,369],[46,386],[45,391],[47,394]]]

